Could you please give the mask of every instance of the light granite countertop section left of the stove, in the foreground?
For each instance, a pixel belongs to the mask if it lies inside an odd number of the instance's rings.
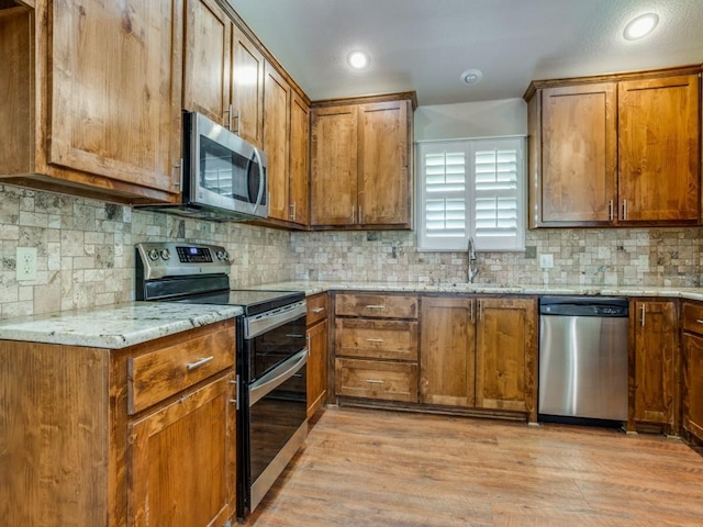
[[[126,348],[241,315],[231,305],[132,302],[0,321],[0,340]]]

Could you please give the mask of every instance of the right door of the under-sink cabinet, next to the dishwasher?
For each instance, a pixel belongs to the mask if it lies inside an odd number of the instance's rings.
[[[533,299],[481,299],[476,405],[528,412],[536,421],[537,309]]]

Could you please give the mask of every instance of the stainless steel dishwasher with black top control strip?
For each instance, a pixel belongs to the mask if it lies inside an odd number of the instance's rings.
[[[553,417],[627,419],[626,299],[539,300],[539,404]]]

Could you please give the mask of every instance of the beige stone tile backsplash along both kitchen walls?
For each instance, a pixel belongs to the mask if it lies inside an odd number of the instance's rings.
[[[525,251],[479,253],[476,281],[699,287],[701,234],[698,227],[528,231]],[[225,246],[233,287],[466,281],[466,254],[417,251],[414,233],[289,233],[0,184],[0,317],[133,300],[134,244],[174,239]],[[18,247],[37,248],[36,280],[16,281]],[[543,254],[554,256],[554,268],[539,268]]]

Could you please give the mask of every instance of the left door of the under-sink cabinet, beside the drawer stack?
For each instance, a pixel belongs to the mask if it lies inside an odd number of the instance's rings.
[[[422,298],[420,402],[472,407],[476,401],[475,301]]]

